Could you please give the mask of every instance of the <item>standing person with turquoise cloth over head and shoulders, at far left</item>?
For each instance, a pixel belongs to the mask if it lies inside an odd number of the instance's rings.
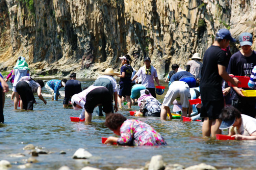
[[[14,92],[14,109],[18,108],[19,94],[16,90],[16,85],[19,82],[20,78],[23,76],[29,76],[28,63],[25,61],[25,57],[19,56],[16,62],[16,65],[13,68],[12,78],[14,78],[12,91]],[[21,108],[23,107],[22,102],[20,104]]]

